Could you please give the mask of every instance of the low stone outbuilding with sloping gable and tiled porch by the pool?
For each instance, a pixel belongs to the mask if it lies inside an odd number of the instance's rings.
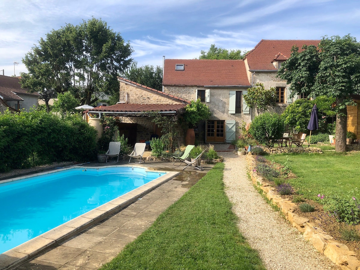
[[[152,122],[153,117],[149,112],[155,112],[163,116],[176,116],[181,114],[185,106],[190,102],[172,94],[138,84],[133,81],[118,77],[120,82],[120,102],[106,107],[96,107],[86,111],[87,115],[114,116],[119,121],[120,135],[124,134],[129,143],[134,145],[140,140],[149,140],[151,135],[162,135],[162,130]],[[95,126],[98,135],[101,136],[102,127],[100,119],[87,117],[90,125]],[[176,128],[179,134],[179,145],[183,143],[184,129],[181,126]],[[177,144],[177,143],[176,143]]]

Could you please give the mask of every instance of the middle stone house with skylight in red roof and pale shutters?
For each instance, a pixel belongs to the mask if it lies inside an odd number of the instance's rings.
[[[212,112],[195,129],[207,143],[230,143],[239,135],[239,124],[251,121],[243,99],[249,87],[243,60],[165,59],[164,93],[186,100],[200,98]]]

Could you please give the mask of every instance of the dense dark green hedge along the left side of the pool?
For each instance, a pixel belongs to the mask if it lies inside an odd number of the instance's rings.
[[[96,130],[80,114],[0,114],[0,172],[50,162],[89,161],[95,153]]]

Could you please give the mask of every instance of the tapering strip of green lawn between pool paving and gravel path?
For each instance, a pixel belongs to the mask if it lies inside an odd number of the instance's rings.
[[[239,233],[218,163],[102,270],[265,269]]]

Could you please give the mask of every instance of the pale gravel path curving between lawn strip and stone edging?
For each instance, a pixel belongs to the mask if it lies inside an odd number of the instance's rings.
[[[269,270],[340,269],[303,239],[300,232],[258,194],[247,175],[245,156],[224,153],[225,192],[239,229]]]

